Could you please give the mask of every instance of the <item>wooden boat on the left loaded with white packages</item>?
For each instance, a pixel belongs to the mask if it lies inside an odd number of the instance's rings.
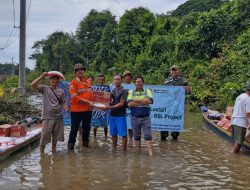
[[[37,142],[41,136],[42,123],[32,120],[29,123],[22,124],[27,126],[27,134],[23,137],[2,137],[0,136],[0,161],[13,156],[17,152],[25,149],[29,145]]]

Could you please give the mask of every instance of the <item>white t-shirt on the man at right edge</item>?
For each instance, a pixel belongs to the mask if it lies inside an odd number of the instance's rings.
[[[250,96],[247,93],[243,93],[236,98],[232,115],[232,125],[247,128],[247,113],[250,113]]]

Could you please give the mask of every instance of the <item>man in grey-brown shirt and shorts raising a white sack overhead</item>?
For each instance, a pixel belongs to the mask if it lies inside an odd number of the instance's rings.
[[[46,85],[39,85],[39,82],[49,77],[50,87]],[[52,152],[56,152],[57,141],[64,141],[64,125],[62,107],[68,110],[65,101],[65,94],[62,89],[57,86],[59,84],[58,75],[49,75],[44,72],[40,77],[35,79],[31,86],[42,94],[42,133],[40,139],[40,151],[43,154],[45,145],[51,142],[52,136]]]

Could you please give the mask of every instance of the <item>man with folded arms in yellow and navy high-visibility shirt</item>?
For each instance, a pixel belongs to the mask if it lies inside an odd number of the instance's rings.
[[[135,90],[128,92],[128,106],[131,109],[131,125],[134,133],[136,151],[141,149],[141,130],[147,143],[149,156],[153,155],[153,144],[151,135],[150,104],[153,104],[152,91],[144,89],[143,77],[137,76],[134,80]]]

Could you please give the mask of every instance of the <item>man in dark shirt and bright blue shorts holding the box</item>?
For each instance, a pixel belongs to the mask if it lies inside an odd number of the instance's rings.
[[[111,109],[109,117],[110,135],[112,136],[113,148],[117,147],[118,135],[122,137],[122,149],[127,149],[127,122],[126,122],[126,99],[127,90],[122,87],[122,76],[116,74],[113,79],[115,88],[111,92],[110,106],[103,108]]]

